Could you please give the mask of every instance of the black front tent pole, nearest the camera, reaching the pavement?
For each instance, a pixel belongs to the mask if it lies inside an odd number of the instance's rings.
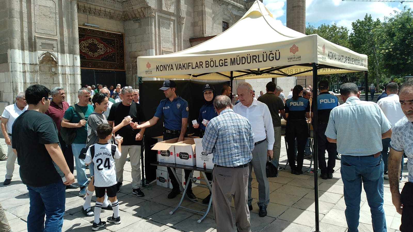
[[[320,231],[320,218],[318,209],[318,144],[317,144],[317,86],[318,86],[318,76],[317,76],[317,66],[318,64],[313,63],[313,156],[314,156],[314,203],[316,208],[316,232]]]

